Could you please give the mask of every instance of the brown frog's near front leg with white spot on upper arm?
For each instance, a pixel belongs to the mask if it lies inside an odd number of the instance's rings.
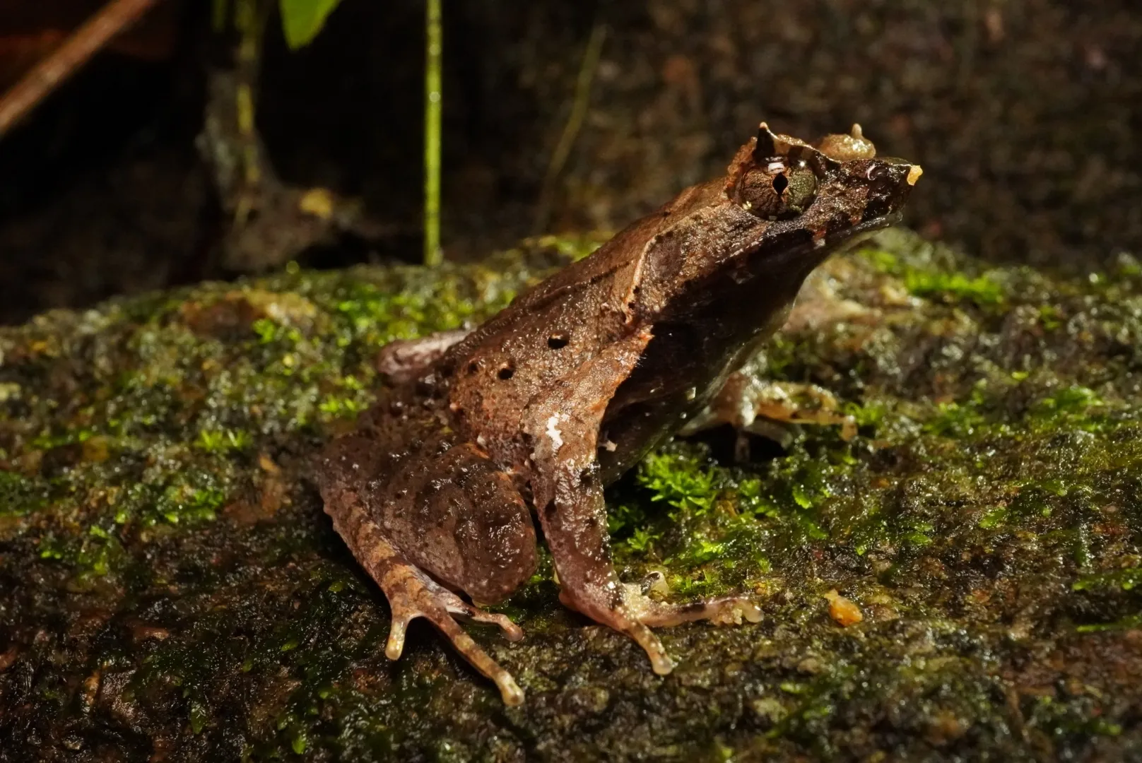
[[[595,452],[598,426],[618,385],[629,375],[649,332],[618,342],[565,379],[561,389],[529,408],[525,427],[534,443],[532,495],[555,571],[560,600],[592,619],[626,633],[650,657],[654,672],[674,668],[648,626],[689,620],[756,623],[756,604],[741,597],[662,604],[624,585],[611,563],[603,485]]]

